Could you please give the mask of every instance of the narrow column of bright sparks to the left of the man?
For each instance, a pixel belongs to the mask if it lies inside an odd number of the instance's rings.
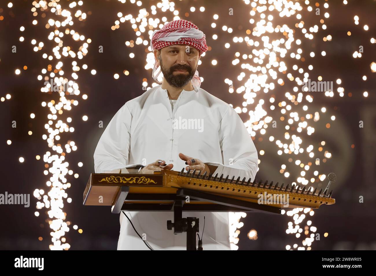
[[[38,15],[38,10],[41,13],[49,12],[49,15],[42,17],[42,20],[46,21],[43,27],[49,31],[46,38],[51,41],[46,44],[53,45],[51,52],[45,50],[42,54],[43,59],[51,61],[52,64],[48,64],[47,68],[41,70],[42,74],[38,75],[38,80],[44,81],[41,92],[48,93],[52,95],[53,99],[56,99],[50,100],[48,103],[42,102],[42,106],[49,109],[48,121],[44,126],[47,134],[42,136],[48,143],[48,147],[51,148],[43,156],[46,167],[44,174],[49,176],[49,180],[46,182],[49,190],[46,194],[43,189],[36,189],[33,193],[35,198],[42,199],[42,202],[37,202],[36,208],[49,209],[47,214],[52,229],[50,232],[52,236],[51,250],[68,250],[70,248],[70,244],[65,243],[64,235],[69,231],[68,226],[71,223],[65,222],[67,213],[63,211],[63,208],[65,202],[71,202],[71,198],[68,198],[66,192],[71,187],[71,183],[67,179],[68,176],[74,174],[74,178],[79,177],[72,169],[68,169],[70,164],[66,160],[71,151],[77,150],[77,145],[69,137],[69,134],[74,132],[74,127],[71,126],[73,119],[66,116],[65,113],[79,103],[78,98],[81,92],[76,83],[79,77],[77,73],[81,67],[87,68],[86,65],[80,66],[77,59],[82,59],[88,53],[88,44],[91,39],[85,39],[84,35],[73,29],[77,20],[82,21],[86,18],[86,14],[79,9],[82,5],[83,1],[64,3],[59,3],[58,0],[34,1],[34,7],[31,9],[34,16]],[[37,25],[38,20],[34,20],[33,24]],[[65,38],[67,39],[65,40]],[[33,39],[32,44],[36,45],[37,41]],[[76,47],[77,50],[74,50]],[[34,51],[44,51],[44,48],[47,48],[44,42],[39,42],[34,47]],[[67,64],[65,67],[63,60]],[[71,75],[69,76],[70,66]],[[64,71],[63,68],[67,68],[67,70]],[[83,95],[82,98],[86,99],[87,95]],[[83,120],[86,121],[87,116]],[[60,142],[61,140],[64,142]],[[38,157],[39,155],[36,158],[38,159]],[[81,162],[79,166],[82,166]],[[39,212],[35,212],[35,216],[39,216]],[[73,229],[77,228],[76,225],[73,226]],[[79,229],[78,232],[82,233],[82,229]]]

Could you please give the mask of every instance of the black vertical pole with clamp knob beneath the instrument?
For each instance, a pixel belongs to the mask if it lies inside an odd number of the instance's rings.
[[[199,232],[199,219],[197,217],[182,218],[183,202],[180,200],[174,201],[174,222],[167,220],[167,229],[174,228],[174,234],[186,232],[186,248],[187,250],[202,250],[196,248],[196,237]]]

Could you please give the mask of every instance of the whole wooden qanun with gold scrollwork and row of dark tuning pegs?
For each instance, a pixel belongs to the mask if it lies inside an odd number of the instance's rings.
[[[317,192],[317,188],[295,184],[285,186],[273,181],[240,179],[240,176],[201,174],[196,170],[185,172],[184,168],[181,172],[129,172],[92,173],[83,194],[83,205],[112,206],[113,213],[120,210],[171,211],[176,200],[184,200],[183,211],[226,211],[226,206],[238,206],[239,211],[258,209],[280,213],[280,208],[286,207],[280,200],[283,195],[288,195],[288,208],[318,208],[335,203],[333,191],[327,194],[327,190],[322,193],[322,189]],[[260,204],[261,197],[264,201]]]

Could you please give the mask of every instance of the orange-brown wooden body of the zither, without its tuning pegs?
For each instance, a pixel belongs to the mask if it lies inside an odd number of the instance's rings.
[[[218,198],[236,199],[253,204],[260,204],[259,198],[263,197],[264,203],[261,204],[276,208],[318,208],[322,204],[335,203],[331,195],[323,196],[312,193],[311,190],[307,192],[305,189],[299,190],[293,187],[285,189],[283,185],[280,187],[273,185],[273,182],[246,184],[239,179],[238,181],[227,178],[218,181],[218,179],[218,177],[203,177],[171,170],[150,174],[92,173],[83,194],[83,205],[114,205],[121,186],[127,186],[129,191],[127,192],[129,196],[124,200],[126,204],[173,204],[177,192],[181,189],[205,192]],[[243,185],[239,184],[240,182]],[[134,195],[133,199],[132,195]],[[285,198],[288,196],[288,207],[284,205],[282,196]],[[134,198],[142,198],[142,200]],[[213,202],[192,199],[184,204],[213,204]]]

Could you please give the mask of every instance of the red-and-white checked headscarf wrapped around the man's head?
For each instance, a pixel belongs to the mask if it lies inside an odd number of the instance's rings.
[[[205,34],[201,32],[195,24],[183,19],[171,21],[163,26],[162,29],[155,30],[150,40],[150,48],[152,48],[152,51],[175,44],[190,45],[199,50],[200,55],[208,50]],[[157,59],[152,75],[155,81],[157,81],[158,75],[161,73],[159,65],[159,60]],[[158,68],[159,70],[157,72]],[[198,70],[194,73],[192,84],[196,87],[200,87],[201,85]]]

